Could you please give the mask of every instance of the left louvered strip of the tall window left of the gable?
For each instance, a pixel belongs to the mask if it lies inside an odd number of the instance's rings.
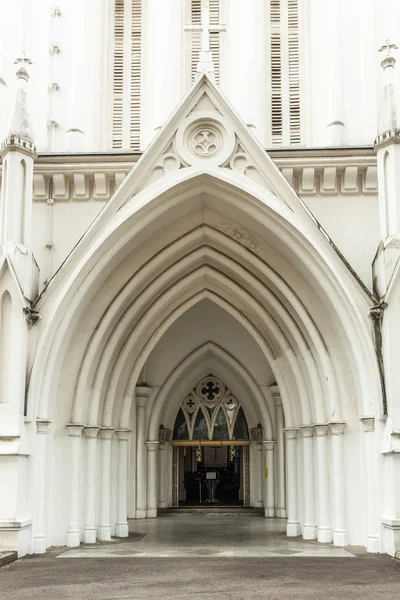
[[[124,0],[115,0],[112,147],[122,148],[124,92]]]

